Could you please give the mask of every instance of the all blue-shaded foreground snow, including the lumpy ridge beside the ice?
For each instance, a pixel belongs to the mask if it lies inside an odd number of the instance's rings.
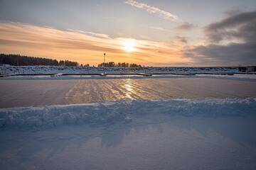
[[[1,169],[256,169],[256,99],[0,110]]]

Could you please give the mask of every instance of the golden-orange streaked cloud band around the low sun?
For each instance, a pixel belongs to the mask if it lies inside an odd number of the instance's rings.
[[[127,38],[81,30],[58,30],[23,23],[0,23],[0,52],[17,53],[57,60],[73,60],[82,64],[102,62],[134,62],[151,66],[187,65],[191,58],[183,57],[182,43],[134,40],[134,51],[125,52]]]

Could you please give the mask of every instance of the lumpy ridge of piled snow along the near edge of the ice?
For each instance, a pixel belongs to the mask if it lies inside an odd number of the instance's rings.
[[[0,129],[41,130],[69,124],[129,123],[136,115],[246,116],[256,113],[256,98],[117,101],[81,105],[0,109]]]

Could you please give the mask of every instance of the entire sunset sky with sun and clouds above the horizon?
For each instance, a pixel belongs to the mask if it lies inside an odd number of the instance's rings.
[[[146,66],[256,65],[255,0],[0,0],[0,53]]]

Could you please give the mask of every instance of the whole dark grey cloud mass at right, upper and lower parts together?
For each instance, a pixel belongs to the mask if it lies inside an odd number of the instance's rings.
[[[211,44],[185,52],[196,62],[207,65],[256,65],[256,11],[238,13],[211,23],[206,26],[205,32]]]

